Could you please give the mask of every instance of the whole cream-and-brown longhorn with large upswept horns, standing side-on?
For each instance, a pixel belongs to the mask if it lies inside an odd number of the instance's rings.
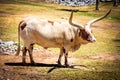
[[[18,51],[20,52],[20,37],[24,42],[22,62],[26,63],[26,52],[28,51],[30,61],[34,64],[32,51],[33,45],[38,44],[44,48],[60,48],[58,64],[61,65],[61,57],[65,57],[65,66],[68,66],[68,51],[76,51],[82,44],[95,42],[96,39],[91,32],[90,26],[105,18],[111,10],[104,16],[89,21],[85,26],[72,22],[73,12],[68,22],[52,22],[40,20],[34,17],[23,19],[18,27]]]

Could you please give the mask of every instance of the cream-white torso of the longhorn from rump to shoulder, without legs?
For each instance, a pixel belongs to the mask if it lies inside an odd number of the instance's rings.
[[[75,35],[73,28],[66,22],[51,24],[48,20],[34,17],[25,18],[23,21],[26,27],[20,33],[26,45],[36,43],[43,47],[62,47],[69,44]]]

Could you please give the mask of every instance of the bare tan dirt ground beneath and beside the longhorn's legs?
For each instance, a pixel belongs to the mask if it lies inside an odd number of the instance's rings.
[[[56,61],[58,59],[59,53],[51,50],[35,50],[34,51],[34,60],[36,63],[40,63],[40,67],[52,67],[56,65]],[[36,80],[45,80],[44,77],[37,74],[35,68],[29,66],[23,66],[21,64],[22,55],[19,56],[10,55],[0,53],[0,80],[30,80],[31,74],[33,77],[36,77]],[[120,60],[120,55],[92,55],[86,58],[75,58],[69,56],[69,64],[75,65],[75,62],[81,59],[89,59],[89,60]],[[27,63],[29,63],[29,56],[27,55]],[[62,61],[62,63],[64,63]],[[49,65],[48,65],[49,64]],[[17,65],[17,66],[16,66]],[[12,66],[12,67],[11,67]],[[79,67],[81,69],[86,69],[85,66]],[[39,71],[41,72],[41,71]]]

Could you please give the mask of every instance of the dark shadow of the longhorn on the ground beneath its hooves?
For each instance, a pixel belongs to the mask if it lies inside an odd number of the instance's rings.
[[[36,64],[26,63],[25,65],[23,65],[21,62],[17,62],[17,63],[15,63],[15,62],[14,62],[14,63],[13,63],[13,62],[8,62],[8,63],[5,63],[5,65],[8,65],[8,66],[51,67],[51,68],[48,70],[48,73],[50,73],[51,71],[53,71],[53,70],[55,70],[55,69],[59,69],[59,68],[80,69],[80,68],[76,68],[75,66],[87,68],[87,66],[84,66],[84,65],[70,65],[70,66],[65,66],[65,65],[46,64],[46,63],[36,63]]]

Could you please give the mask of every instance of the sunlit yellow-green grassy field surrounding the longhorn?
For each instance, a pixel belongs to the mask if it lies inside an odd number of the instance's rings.
[[[100,11],[95,11],[95,6],[70,7],[22,0],[0,0],[0,39],[16,42],[18,24],[27,16],[62,22],[66,21],[62,19],[63,17],[69,18],[69,10],[74,9],[79,10],[74,13],[74,20],[85,24],[89,20],[105,14],[111,6],[111,3],[101,3]],[[14,77],[16,74],[26,75],[28,80],[120,80],[120,59],[117,58],[117,55],[120,55],[120,5],[114,7],[106,19],[93,24],[92,30],[97,42],[83,45],[78,51],[69,53],[70,57],[81,58],[80,61],[75,62],[75,65],[85,65],[90,70],[58,68],[47,73],[50,67],[12,66],[11,75]],[[59,52],[57,49],[52,50]],[[106,57],[106,55],[108,56]],[[98,57],[91,59],[92,56]],[[101,56],[104,58],[100,59]],[[111,57],[114,59],[109,59]],[[31,73],[28,74],[27,71],[31,71]],[[19,77],[18,80],[22,79],[26,78],[21,77],[20,79]]]

